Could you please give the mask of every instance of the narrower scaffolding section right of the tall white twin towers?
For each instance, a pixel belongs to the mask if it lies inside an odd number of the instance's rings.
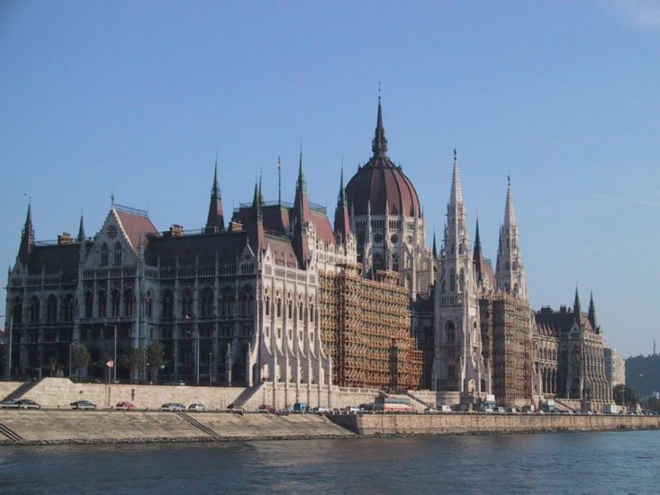
[[[508,293],[480,301],[484,362],[495,400],[503,406],[529,404],[533,364],[529,303]]]

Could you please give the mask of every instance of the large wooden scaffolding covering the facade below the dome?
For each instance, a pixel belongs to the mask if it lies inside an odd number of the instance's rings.
[[[408,291],[398,281],[385,271],[367,280],[357,264],[320,275],[321,341],[332,357],[333,383],[419,388],[422,353],[411,337]]]

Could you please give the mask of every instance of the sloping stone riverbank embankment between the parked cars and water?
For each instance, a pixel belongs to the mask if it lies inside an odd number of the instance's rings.
[[[660,429],[660,417],[0,410],[0,444],[230,442]]]

